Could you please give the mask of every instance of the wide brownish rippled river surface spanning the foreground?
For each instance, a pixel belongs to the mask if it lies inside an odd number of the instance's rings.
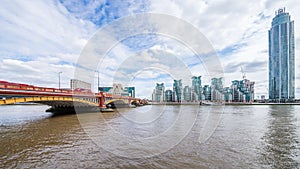
[[[0,168],[300,168],[300,106],[0,106]]]

